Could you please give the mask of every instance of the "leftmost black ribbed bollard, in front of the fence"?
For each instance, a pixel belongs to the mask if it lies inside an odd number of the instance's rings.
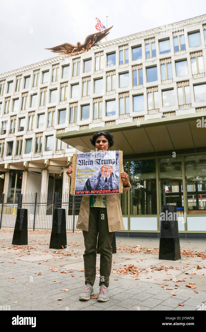
[[[15,245],[28,244],[27,216],[28,216],[28,210],[26,208],[18,208],[12,244]]]

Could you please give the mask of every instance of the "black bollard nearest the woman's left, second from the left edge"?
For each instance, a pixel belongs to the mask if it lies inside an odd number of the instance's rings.
[[[66,248],[66,210],[64,208],[55,208],[53,221],[52,221],[52,233],[50,238],[50,249],[62,249],[62,246]]]

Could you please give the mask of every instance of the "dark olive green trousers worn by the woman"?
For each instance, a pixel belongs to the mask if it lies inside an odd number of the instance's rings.
[[[84,274],[85,285],[94,285],[96,278],[97,237],[99,233],[100,252],[100,283],[99,286],[109,286],[109,276],[112,264],[112,237],[109,232],[107,210],[105,207],[90,207],[89,229],[82,231],[84,236]]]

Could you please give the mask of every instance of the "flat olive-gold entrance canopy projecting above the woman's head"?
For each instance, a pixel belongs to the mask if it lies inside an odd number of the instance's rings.
[[[114,136],[112,150],[122,150],[124,155],[177,151],[206,146],[206,112],[184,114],[113,126],[68,131],[56,137],[81,152],[95,150],[90,138],[98,130],[108,130]],[[197,126],[200,119],[203,127]],[[206,118],[205,118],[206,119]],[[198,120],[199,121],[199,120]]]

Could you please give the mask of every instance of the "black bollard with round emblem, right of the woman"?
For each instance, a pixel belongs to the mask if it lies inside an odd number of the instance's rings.
[[[181,259],[177,207],[174,205],[161,208],[159,259]]]

